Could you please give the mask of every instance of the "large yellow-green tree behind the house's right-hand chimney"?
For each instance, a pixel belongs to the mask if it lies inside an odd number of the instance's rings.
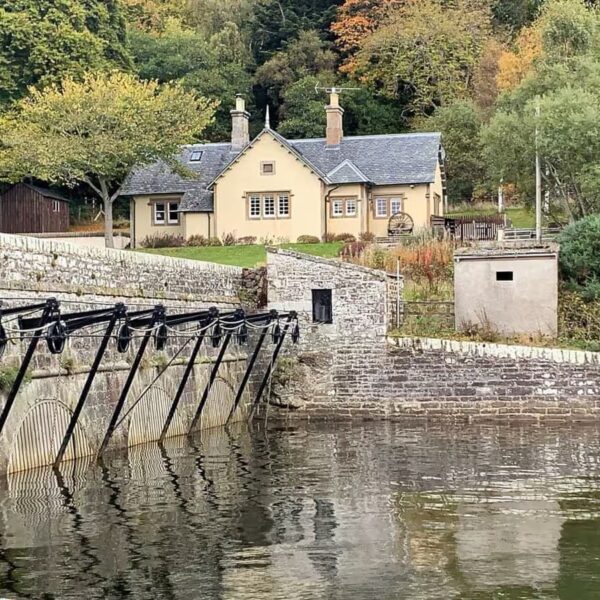
[[[355,74],[405,103],[407,115],[430,114],[470,93],[489,36],[489,9],[479,2],[407,0],[365,38]]]

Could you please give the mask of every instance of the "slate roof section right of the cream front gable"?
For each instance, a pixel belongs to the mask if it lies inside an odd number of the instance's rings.
[[[349,161],[374,185],[407,185],[435,181],[442,136],[440,133],[354,136],[345,137],[335,147],[327,146],[324,138],[289,143],[325,173]]]

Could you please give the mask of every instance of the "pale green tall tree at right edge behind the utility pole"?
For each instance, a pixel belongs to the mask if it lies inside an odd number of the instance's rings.
[[[537,144],[545,189],[574,220],[600,210],[600,15],[582,0],[547,0],[534,25],[541,54],[501,97],[484,156],[496,180],[531,200]]]

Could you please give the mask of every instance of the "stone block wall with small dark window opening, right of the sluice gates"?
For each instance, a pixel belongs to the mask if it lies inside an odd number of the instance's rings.
[[[283,251],[269,253],[268,270],[269,306],[297,310],[303,323],[274,388],[299,416],[600,418],[600,354],[388,338],[384,274]],[[332,325],[312,323],[319,287],[333,291]]]

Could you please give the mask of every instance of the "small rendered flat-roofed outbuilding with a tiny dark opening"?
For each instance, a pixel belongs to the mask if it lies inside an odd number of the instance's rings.
[[[558,332],[558,246],[491,244],[454,254],[457,330],[504,335]]]

